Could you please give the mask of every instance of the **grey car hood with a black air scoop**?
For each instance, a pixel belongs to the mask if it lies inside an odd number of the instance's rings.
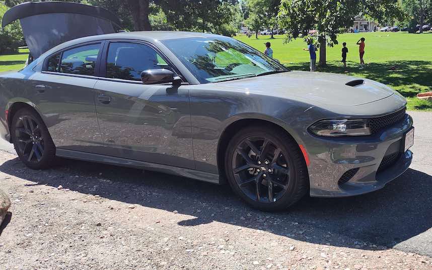
[[[365,78],[306,71],[211,84],[219,89],[236,88],[250,94],[299,100],[311,105],[357,106],[385,99],[395,93],[385,84]]]

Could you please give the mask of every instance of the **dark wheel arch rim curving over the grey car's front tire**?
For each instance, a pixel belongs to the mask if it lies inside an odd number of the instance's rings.
[[[219,175],[221,176],[221,179],[224,179],[223,182],[226,180],[225,176],[225,152],[227,150],[228,144],[230,142],[230,139],[236,134],[240,129],[245,128],[250,125],[267,125],[271,126],[275,129],[279,129],[284,134],[286,134],[288,137],[292,138],[296,144],[299,146],[299,151],[302,153],[302,156],[306,163],[306,157],[305,152],[301,149],[301,145],[303,145],[302,140],[296,136],[295,132],[293,130],[290,130],[285,127],[283,122],[279,119],[273,119],[268,118],[265,116],[251,116],[246,118],[238,119],[231,121],[224,130],[221,133],[221,136],[219,138],[218,142],[218,148],[217,148],[217,163],[218,163],[218,170]]]

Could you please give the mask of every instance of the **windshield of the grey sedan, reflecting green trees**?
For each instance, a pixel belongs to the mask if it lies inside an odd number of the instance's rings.
[[[289,71],[263,53],[232,38],[186,38],[162,42],[200,83]]]

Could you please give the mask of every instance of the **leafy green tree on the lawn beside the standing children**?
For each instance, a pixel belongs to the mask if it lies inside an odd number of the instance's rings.
[[[378,21],[401,16],[397,0],[282,0],[278,19],[288,31],[287,41],[301,34],[307,38],[310,30],[316,30],[319,64],[325,66],[326,47],[338,44],[339,29],[352,26],[358,14]]]

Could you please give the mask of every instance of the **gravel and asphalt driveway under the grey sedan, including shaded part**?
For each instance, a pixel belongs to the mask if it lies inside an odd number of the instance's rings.
[[[405,174],[372,194],[305,198],[277,214],[227,186],[161,173],[73,160],[30,170],[2,142],[12,216],[0,269],[432,269],[432,114],[410,114]]]

